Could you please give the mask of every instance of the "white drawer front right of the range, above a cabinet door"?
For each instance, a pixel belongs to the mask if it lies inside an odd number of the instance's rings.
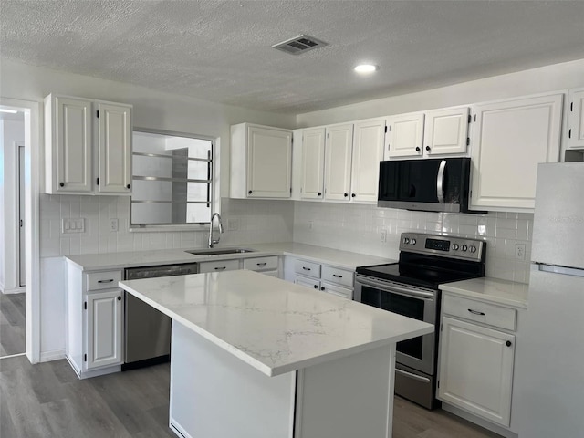
[[[444,315],[452,315],[507,330],[515,331],[516,329],[517,311],[514,308],[502,308],[474,299],[444,295],[443,310]]]

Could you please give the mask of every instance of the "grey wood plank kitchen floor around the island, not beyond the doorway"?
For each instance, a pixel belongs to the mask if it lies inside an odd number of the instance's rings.
[[[174,437],[168,428],[169,371],[166,363],[79,381],[67,360],[33,366],[25,356],[2,359],[0,436]],[[395,398],[394,438],[498,436],[448,412]]]

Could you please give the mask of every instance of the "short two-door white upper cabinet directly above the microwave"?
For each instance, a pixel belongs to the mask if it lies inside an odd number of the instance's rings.
[[[385,160],[465,154],[468,111],[468,107],[454,107],[389,117]]]

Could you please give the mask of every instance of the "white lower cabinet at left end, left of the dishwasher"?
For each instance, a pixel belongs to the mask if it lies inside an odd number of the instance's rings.
[[[68,264],[65,354],[80,379],[121,369],[124,295],[121,270],[84,272]]]

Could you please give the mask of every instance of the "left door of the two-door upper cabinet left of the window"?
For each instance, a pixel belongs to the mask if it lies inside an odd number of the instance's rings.
[[[57,138],[52,147],[56,193],[91,193],[91,101],[55,98],[54,123]]]

